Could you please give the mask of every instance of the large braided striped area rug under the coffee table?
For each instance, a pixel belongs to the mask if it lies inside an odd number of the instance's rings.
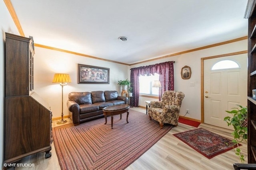
[[[74,126],[62,125],[52,129],[54,146],[62,170],[122,170],[139,158],[161,139],[172,125],[149,120],[148,115],[129,111],[114,115],[105,125],[105,118]]]

